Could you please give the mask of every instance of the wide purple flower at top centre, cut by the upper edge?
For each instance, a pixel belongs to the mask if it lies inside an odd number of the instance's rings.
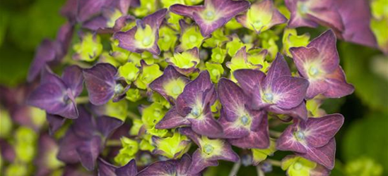
[[[207,37],[248,8],[249,1],[205,0],[204,6],[175,4],[170,6],[170,11],[192,18],[201,28],[201,34]]]

